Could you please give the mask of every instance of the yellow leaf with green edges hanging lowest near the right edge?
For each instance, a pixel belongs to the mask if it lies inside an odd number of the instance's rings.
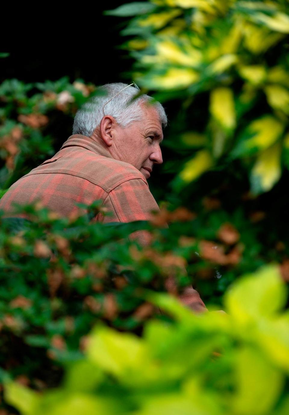
[[[267,192],[281,176],[281,143],[258,154],[251,172],[253,193]]]

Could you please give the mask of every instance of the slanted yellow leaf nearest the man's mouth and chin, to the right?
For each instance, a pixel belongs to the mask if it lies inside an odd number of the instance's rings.
[[[211,166],[213,166],[213,159],[209,151],[200,150],[191,160],[187,161],[179,176],[183,181],[189,183],[209,170]]]

